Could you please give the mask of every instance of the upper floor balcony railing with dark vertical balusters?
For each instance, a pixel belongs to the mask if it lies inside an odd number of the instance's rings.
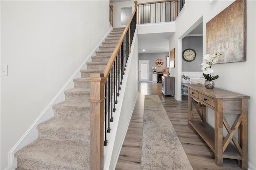
[[[137,4],[138,24],[175,21],[185,0],[162,0]]]

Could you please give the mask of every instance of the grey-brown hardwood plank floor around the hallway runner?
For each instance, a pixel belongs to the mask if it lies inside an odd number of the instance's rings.
[[[192,128],[188,128],[188,98],[176,101],[162,95],[161,83],[139,83],[139,96],[132,114],[116,170],[139,170],[142,146],[144,95],[158,95],[178,134],[194,170],[240,170],[235,160],[224,159],[223,166],[214,162],[214,153]],[[199,119],[199,116],[197,117]]]

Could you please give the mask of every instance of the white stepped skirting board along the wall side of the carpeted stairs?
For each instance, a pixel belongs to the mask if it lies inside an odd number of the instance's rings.
[[[55,95],[52,101],[50,101],[47,107],[42,111],[42,113],[40,113],[40,115],[34,121],[34,123],[28,128],[28,130],[22,135],[22,137],[18,140],[18,142],[8,152],[8,167],[6,168],[6,170],[8,170],[9,167],[16,168],[17,166],[17,162],[15,162],[15,159],[14,159],[14,153],[20,150],[21,148],[23,148],[24,146],[30,144],[32,141],[36,140],[36,138],[38,138],[38,130],[36,129],[36,126],[42,123],[43,121],[46,121],[47,119],[50,119],[51,117],[53,117],[54,113],[53,113],[52,106],[65,100],[64,91],[74,87],[73,79],[81,77],[80,70],[86,69],[86,62],[91,61],[91,57],[95,55],[95,51],[99,49],[102,42],[104,42],[105,38],[111,32],[112,26],[109,25],[109,27],[110,27],[110,30],[107,32],[104,38],[102,38],[102,40],[98,43],[98,45],[91,51],[91,53],[86,57],[83,63],[78,67],[78,69],[74,72],[74,74],[68,79],[68,81],[60,89],[60,91]]]

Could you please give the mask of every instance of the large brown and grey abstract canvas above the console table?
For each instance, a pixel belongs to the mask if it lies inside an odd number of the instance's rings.
[[[246,0],[236,0],[206,23],[206,53],[218,63],[246,61]]]

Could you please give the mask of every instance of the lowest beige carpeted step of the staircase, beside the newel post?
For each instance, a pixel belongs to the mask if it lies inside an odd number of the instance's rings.
[[[21,169],[90,169],[90,145],[82,142],[37,139],[15,156]]]

